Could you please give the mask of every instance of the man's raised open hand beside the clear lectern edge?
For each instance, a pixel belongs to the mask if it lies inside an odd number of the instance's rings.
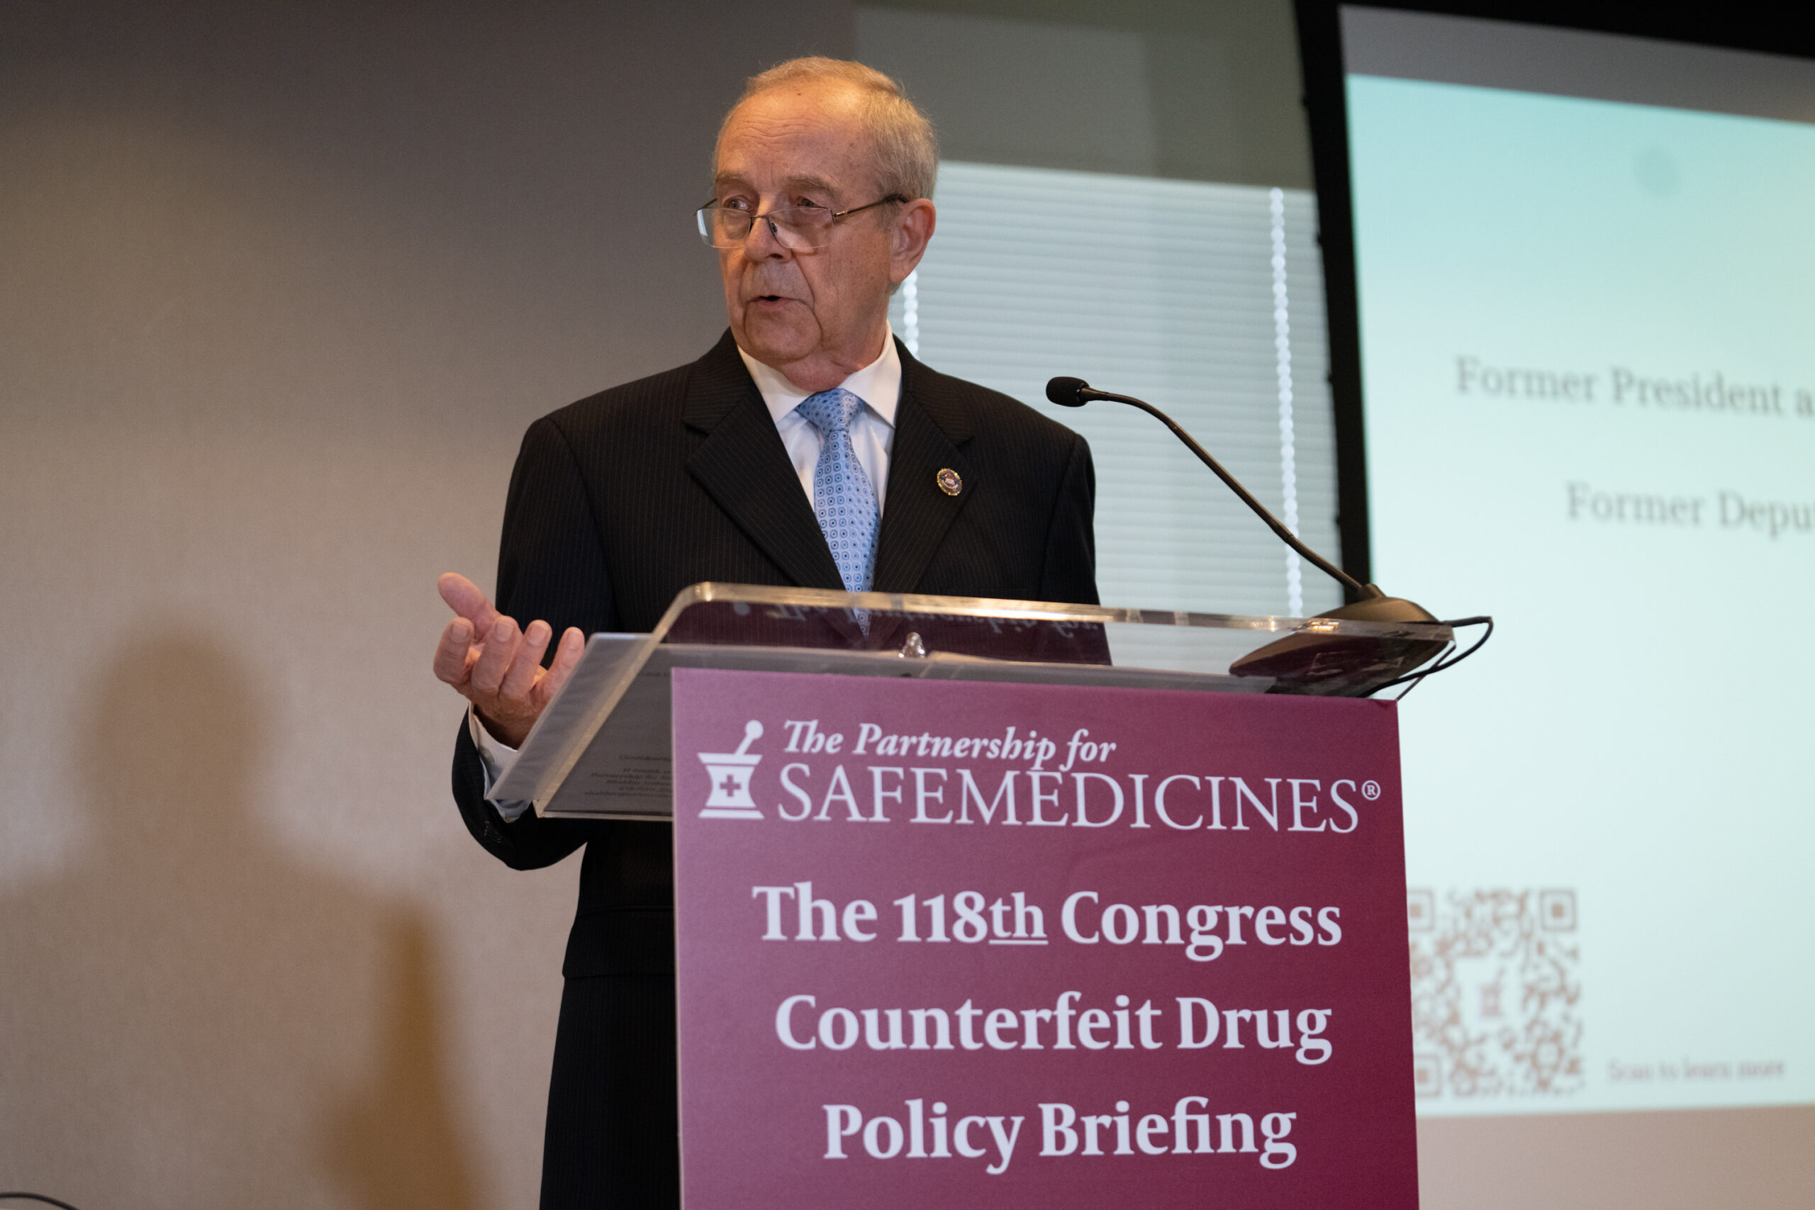
[[[436,677],[474,704],[494,738],[521,747],[548,698],[574,675],[586,637],[568,626],[554,664],[543,668],[554,637],[548,622],[517,629],[515,619],[494,610],[477,584],[454,571],[443,575],[437,588],[456,617],[436,646]]]

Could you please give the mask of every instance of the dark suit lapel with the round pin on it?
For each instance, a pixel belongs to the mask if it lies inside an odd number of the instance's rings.
[[[911,593],[951,522],[976,490],[976,477],[958,452],[971,439],[964,405],[946,390],[937,374],[900,348],[900,341],[897,350],[902,359],[902,395],[895,410],[889,493],[882,510],[873,582],[877,591]],[[958,473],[958,495],[938,486],[942,470]],[[811,510],[808,512],[811,517]],[[831,557],[829,551],[826,557]]]

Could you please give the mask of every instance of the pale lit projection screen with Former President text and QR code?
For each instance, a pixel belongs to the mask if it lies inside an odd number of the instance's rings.
[[[1343,7],[1419,1112],[1815,1101],[1815,65]]]

